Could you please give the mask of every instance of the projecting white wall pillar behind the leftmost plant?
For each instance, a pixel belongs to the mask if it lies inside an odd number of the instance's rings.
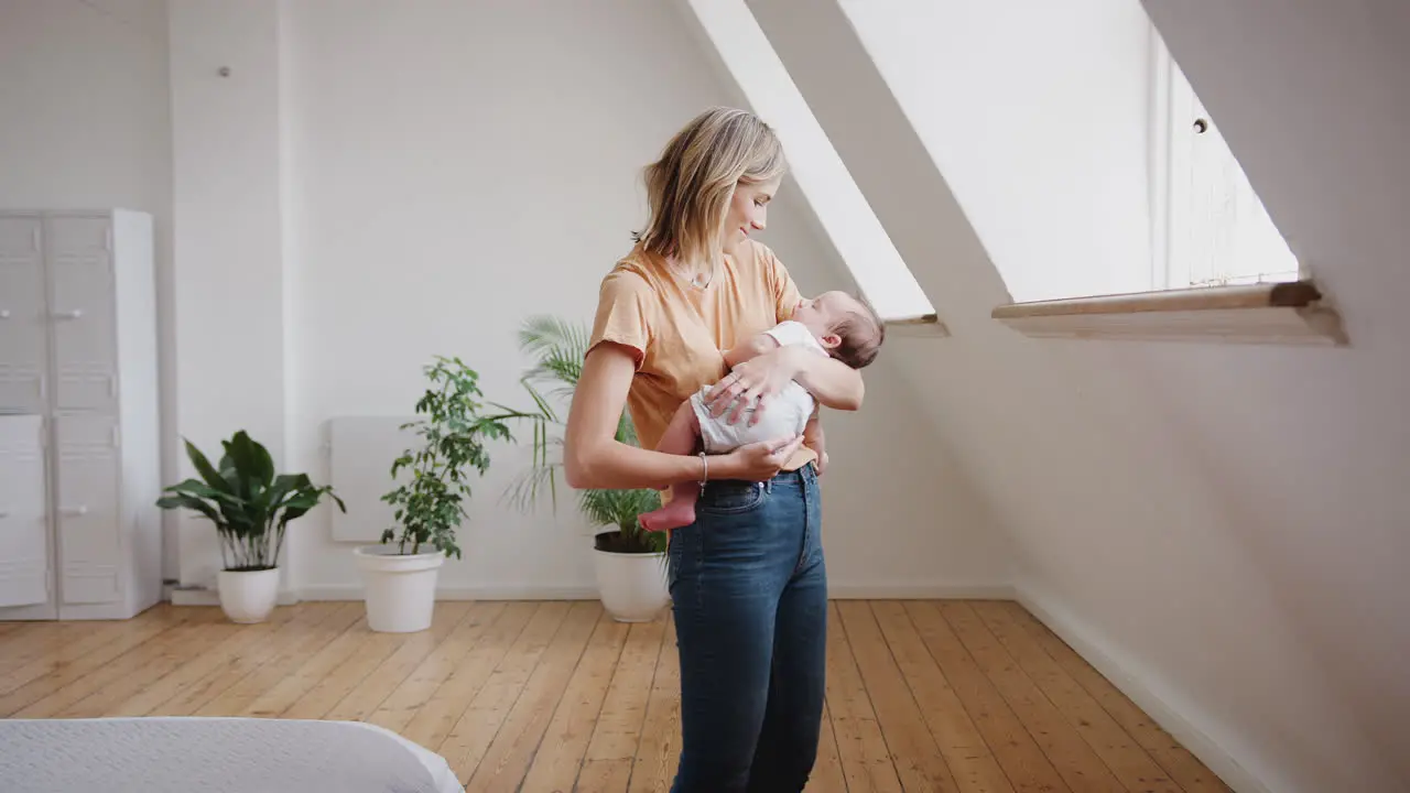
[[[279,3],[183,0],[169,23],[179,430],[219,459],[244,429],[282,460]],[[217,547],[182,521],[183,584],[213,583]]]

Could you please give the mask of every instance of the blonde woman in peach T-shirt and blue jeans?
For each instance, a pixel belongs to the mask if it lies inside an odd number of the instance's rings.
[[[603,278],[568,416],[575,488],[701,483],[695,523],[673,532],[670,586],[681,660],[684,745],[673,792],[802,790],[822,720],[828,586],[819,494],[802,437],[729,454],[653,452],[677,406],[716,382],[716,415],[790,380],[854,411],[857,371],[780,349],[729,373],[722,350],[788,319],[801,302],[783,264],[750,240],[785,169],[783,147],[743,110],[712,109],[646,169],[650,220]],[[642,447],[618,443],[623,406]],[[750,420],[750,419],[736,419]]]

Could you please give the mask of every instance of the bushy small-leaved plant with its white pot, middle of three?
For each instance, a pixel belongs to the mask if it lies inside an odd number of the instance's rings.
[[[430,384],[416,402],[423,418],[402,425],[420,444],[392,461],[393,480],[403,470],[409,477],[382,495],[396,508],[398,525],[382,532],[381,545],[354,549],[372,631],[430,628],[437,573],[447,557],[461,557],[455,529],[467,516],[470,471],[489,468],[488,440],[512,440],[505,423],[512,415],[482,413],[475,370],[437,356],[424,373]]]

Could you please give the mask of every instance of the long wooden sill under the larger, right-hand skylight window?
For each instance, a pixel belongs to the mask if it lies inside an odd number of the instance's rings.
[[[1008,303],[991,316],[1038,339],[1345,346],[1311,281]]]

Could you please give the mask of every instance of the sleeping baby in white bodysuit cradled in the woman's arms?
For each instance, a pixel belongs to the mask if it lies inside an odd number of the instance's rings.
[[[884,339],[885,326],[866,303],[846,292],[823,292],[812,301],[798,303],[792,319],[780,322],[725,353],[725,363],[733,368],[770,350],[799,346],[821,356],[832,356],[852,368],[862,368],[876,360]],[[828,467],[818,405],[802,385],[788,382],[770,399],[759,423],[752,423],[749,418],[753,406],[746,408],[744,416],[736,423],[729,422],[733,408],[718,418],[711,415],[705,404],[711,388],[702,387],[681,404],[661,435],[657,452],[691,454],[697,443],[702,442],[706,454],[728,454],[749,443],[794,437],[802,432],[804,446],[818,454],[819,473]],[[666,507],[642,515],[642,528],[661,532],[694,523],[698,498],[699,484],[677,484],[671,488],[671,500]]]

